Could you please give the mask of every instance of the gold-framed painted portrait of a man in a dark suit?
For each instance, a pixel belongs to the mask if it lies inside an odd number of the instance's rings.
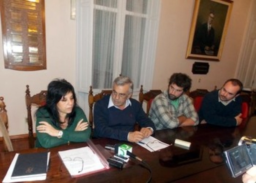
[[[220,61],[233,1],[195,0],[186,58]]]

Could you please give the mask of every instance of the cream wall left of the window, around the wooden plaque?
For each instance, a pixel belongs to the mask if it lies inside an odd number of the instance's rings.
[[[70,0],[45,0],[47,70],[15,71],[4,69],[0,44],[0,96],[4,97],[9,117],[9,134],[26,134],[25,90],[31,94],[47,89],[56,77],[76,84],[76,21],[70,20]],[[2,43],[2,37],[0,37]]]

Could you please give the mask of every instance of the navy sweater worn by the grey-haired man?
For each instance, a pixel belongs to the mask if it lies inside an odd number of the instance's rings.
[[[147,117],[137,100],[130,98],[131,105],[124,110],[112,106],[108,108],[110,95],[103,97],[94,106],[94,132],[93,137],[108,137],[127,141],[128,133],[134,131],[134,126],[151,127],[154,123]]]

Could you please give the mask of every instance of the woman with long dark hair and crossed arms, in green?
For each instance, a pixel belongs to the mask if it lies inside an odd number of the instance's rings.
[[[51,148],[90,138],[91,129],[83,110],[77,106],[74,88],[64,79],[49,83],[46,105],[35,115],[36,147]]]

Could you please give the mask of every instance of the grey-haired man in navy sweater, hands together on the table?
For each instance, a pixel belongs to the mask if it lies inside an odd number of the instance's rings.
[[[154,123],[141,104],[131,98],[132,92],[133,82],[129,77],[119,76],[113,81],[112,94],[95,103],[93,137],[139,142],[153,134]],[[140,131],[134,131],[136,123]]]

